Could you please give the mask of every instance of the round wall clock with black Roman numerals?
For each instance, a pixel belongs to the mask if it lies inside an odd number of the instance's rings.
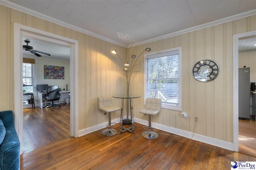
[[[194,65],[192,74],[200,82],[210,82],[218,76],[219,71],[219,66],[215,61],[203,59]]]

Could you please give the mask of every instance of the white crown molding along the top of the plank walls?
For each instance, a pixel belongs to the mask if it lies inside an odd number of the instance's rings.
[[[125,48],[130,48],[130,47],[134,47],[134,46],[137,46],[137,45],[151,43],[153,41],[158,41],[158,40],[169,38],[169,37],[173,37],[173,36],[176,36],[176,35],[192,32],[192,31],[196,31],[198,29],[203,29],[203,28],[211,27],[211,26],[218,25],[218,24],[221,24],[221,23],[225,23],[225,22],[229,22],[229,21],[234,21],[234,20],[238,20],[240,18],[245,18],[245,17],[248,17],[248,16],[256,15],[256,9],[254,9],[254,10],[246,11],[246,12],[243,12],[243,13],[240,13],[240,14],[236,14],[236,15],[233,15],[233,16],[229,16],[229,17],[226,17],[226,18],[222,18],[220,20],[204,23],[204,24],[201,24],[201,25],[197,25],[197,26],[194,26],[194,27],[187,28],[187,29],[182,29],[182,30],[176,31],[174,33],[169,33],[169,34],[162,35],[162,36],[159,36],[159,37],[155,37],[155,38],[152,38],[152,39],[148,39],[148,40],[145,40],[145,41],[140,41],[138,43],[134,43],[134,44],[131,44],[131,45],[125,45],[123,43],[119,43],[119,42],[114,41],[112,39],[108,39],[108,38],[103,37],[101,35],[98,35],[96,33],[92,33],[91,31],[88,31],[86,29],[82,29],[82,28],[76,27],[74,25],[71,25],[69,23],[57,20],[57,19],[52,18],[50,16],[46,16],[45,14],[36,12],[36,11],[31,10],[29,8],[25,8],[25,7],[20,6],[18,4],[14,4],[13,2],[10,2],[10,1],[7,1],[7,0],[0,0],[0,5],[7,6],[9,8],[14,9],[14,10],[18,10],[20,12],[24,12],[26,14],[30,14],[32,16],[35,16],[35,17],[41,18],[43,20],[59,24],[59,25],[62,25],[64,27],[68,27],[70,29],[74,29],[75,31],[79,31],[81,33],[85,33],[85,34],[91,35],[91,36],[96,37],[98,39],[102,39],[104,41],[108,41],[110,43],[113,43],[113,44],[116,44],[116,45],[120,45],[121,47],[125,47]]]

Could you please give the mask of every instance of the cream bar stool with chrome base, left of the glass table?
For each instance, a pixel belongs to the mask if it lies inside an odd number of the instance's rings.
[[[108,129],[103,130],[102,135],[104,135],[104,136],[116,135],[117,130],[116,129],[111,129],[111,127],[116,125],[116,123],[111,123],[111,112],[120,110],[120,107],[112,106],[111,96],[99,97],[98,98],[98,105],[99,105],[99,109],[101,111],[105,112],[104,115],[106,113],[108,113],[108,125],[106,125],[106,127],[108,127]]]

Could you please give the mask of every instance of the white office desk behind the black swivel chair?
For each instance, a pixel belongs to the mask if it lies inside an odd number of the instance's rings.
[[[60,99],[54,103],[65,103],[66,98],[68,98],[68,93],[70,91],[60,91]],[[48,102],[45,100],[46,92],[38,92],[38,107],[41,109],[45,107],[48,103],[51,104],[52,102]]]

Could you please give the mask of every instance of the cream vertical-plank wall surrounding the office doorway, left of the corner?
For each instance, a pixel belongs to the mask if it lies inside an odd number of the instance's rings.
[[[20,23],[78,40],[78,129],[108,121],[107,115],[98,110],[98,96],[123,93],[122,64],[111,53],[117,49],[121,58],[126,57],[126,48],[72,29],[42,20],[0,5],[0,110],[14,110],[14,23]],[[115,100],[114,102],[119,102]],[[116,114],[112,118],[120,117]]]

